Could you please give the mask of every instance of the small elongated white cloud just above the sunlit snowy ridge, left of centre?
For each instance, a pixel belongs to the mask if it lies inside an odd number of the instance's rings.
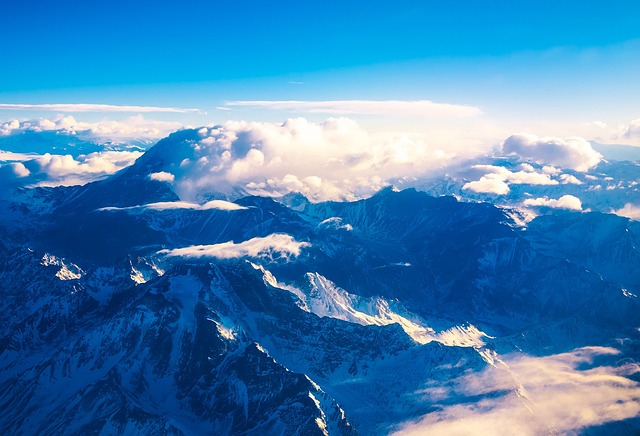
[[[234,259],[240,257],[290,257],[299,256],[300,250],[310,247],[308,242],[298,242],[291,235],[274,233],[264,238],[248,241],[224,242],[214,245],[193,245],[190,247],[161,250],[158,254],[169,257]]]

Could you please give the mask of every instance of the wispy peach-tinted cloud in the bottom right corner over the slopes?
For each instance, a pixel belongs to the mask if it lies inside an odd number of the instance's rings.
[[[640,384],[628,376],[640,372],[640,366],[593,366],[595,358],[618,353],[585,347],[547,357],[506,359],[505,365],[425,390],[427,395],[434,392],[433,401],[447,399],[449,404],[406,424],[399,434],[577,434],[637,417]]]

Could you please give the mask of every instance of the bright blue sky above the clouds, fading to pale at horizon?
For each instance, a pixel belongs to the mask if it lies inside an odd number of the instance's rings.
[[[195,108],[145,117],[196,125],[346,115],[487,138],[597,136],[588,123],[613,132],[640,118],[636,1],[22,1],[3,6],[0,37],[3,104]],[[283,100],[428,100],[480,115],[228,105]],[[0,120],[54,112],[5,107]]]

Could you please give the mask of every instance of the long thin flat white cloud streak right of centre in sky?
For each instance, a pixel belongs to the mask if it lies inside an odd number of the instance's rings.
[[[434,103],[429,100],[240,100],[228,101],[227,106],[286,110],[292,112],[332,115],[405,115],[423,117],[470,117],[480,115],[474,106]]]

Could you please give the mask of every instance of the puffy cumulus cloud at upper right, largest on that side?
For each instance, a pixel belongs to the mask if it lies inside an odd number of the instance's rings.
[[[539,138],[530,134],[517,134],[502,143],[502,151],[539,164],[556,165],[576,171],[587,171],[602,160],[584,138]]]

